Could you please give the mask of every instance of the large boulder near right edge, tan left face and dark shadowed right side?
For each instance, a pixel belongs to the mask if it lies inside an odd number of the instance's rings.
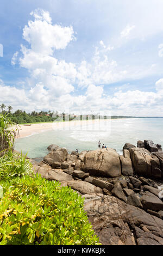
[[[136,174],[161,179],[160,162],[158,157],[152,155],[144,148],[132,148],[129,151]]]

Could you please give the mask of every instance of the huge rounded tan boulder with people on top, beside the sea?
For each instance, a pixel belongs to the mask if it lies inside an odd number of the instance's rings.
[[[114,149],[97,149],[87,152],[82,168],[92,175],[112,178],[121,175],[120,159]]]

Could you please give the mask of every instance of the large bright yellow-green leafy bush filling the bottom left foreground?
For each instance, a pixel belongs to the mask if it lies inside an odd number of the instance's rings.
[[[99,244],[83,210],[84,199],[71,188],[40,175],[2,186],[0,245]]]

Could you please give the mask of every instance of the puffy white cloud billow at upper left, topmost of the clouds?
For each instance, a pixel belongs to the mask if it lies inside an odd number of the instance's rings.
[[[31,45],[36,53],[52,55],[54,49],[65,49],[74,39],[73,28],[52,25],[52,19],[47,11],[36,9],[31,13],[35,20],[28,21],[23,29],[23,39]]]

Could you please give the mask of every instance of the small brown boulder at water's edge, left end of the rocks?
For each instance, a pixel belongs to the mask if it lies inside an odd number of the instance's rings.
[[[59,148],[57,150],[52,150],[49,154],[43,157],[43,161],[52,165],[54,162],[64,162],[67,158],[68,152],[65,148]]]

